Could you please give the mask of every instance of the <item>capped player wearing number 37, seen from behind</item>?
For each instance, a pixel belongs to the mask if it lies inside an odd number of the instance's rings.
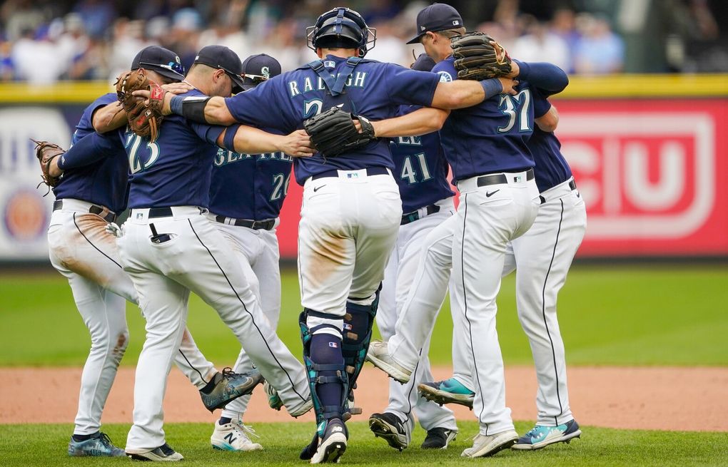
[[[427,54],[438,62],[433,71],[443,81],[455,80],[454,57],[446,44],[449,36],[462,32],[451,29],[451,25],[462,24],[462,18],[454,8],[434,4],[419,13],[417,23],[418,36],[413,40],[421,41]],[[443,223],[430,233],[447,235],[454,226],[451,300],[467,322],[464,338],[471,344],[474,410],[480,422],[472,447],[462,452],[472,458],[493,455],[518,439],[505,405],[503,362],[495,327],[496,295],[507,244],[531,227],[540,204],[533,156],[526,145],[534,127],[531,88],[559,92],[568,84],[566,73],[547,63],[514,61],[509,76],[518,77],[515,96],[502,95],[452,111],[443,125],[440,137],[460,191],[460,204],[452,223]],[[416,117],[411,113],[400,118],[412,124]],[[402,135],[406,128],[402,125],[391,135]],[[412,313],[420,314],[421,310]],[[422,334],[424,330],[415,332]],[[411,347],[398,335],[389,344],[391,349],[387,343],[373,343],[368,358],[406,382],[422,346]]]

